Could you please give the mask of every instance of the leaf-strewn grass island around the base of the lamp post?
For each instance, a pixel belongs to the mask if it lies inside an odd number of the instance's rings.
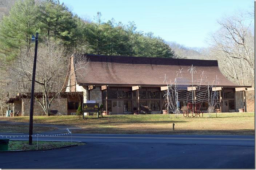
[[[8,150],[37,150],[37,141],[28,145],[28,141],[9,141]],[[64,146],[85,145],[83,142],[52,142],[38,141],[38,150],[53,149]]]

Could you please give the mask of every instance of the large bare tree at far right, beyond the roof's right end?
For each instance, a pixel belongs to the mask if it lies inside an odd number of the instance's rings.
[[[220,29],[210,36],[211,58],[219,60],[227,78],[239,85],[253,85],[254,23],[251,15],[238,13],[218,21]]]

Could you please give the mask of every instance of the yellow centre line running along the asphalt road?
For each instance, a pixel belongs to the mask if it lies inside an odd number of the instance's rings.
[[[46,137],[56,137],[56,138],[67,138],[66,136],[46,136]],[[69,136],[70,137],[70,136]],[[75,137],[73,138],[135,138],[135,139],[207,139],[207,140],[251,140],[254,139],[239,139],[239,138],[164,138],[164,137],[95,137],[95,136],[81,136],[81,137]]]

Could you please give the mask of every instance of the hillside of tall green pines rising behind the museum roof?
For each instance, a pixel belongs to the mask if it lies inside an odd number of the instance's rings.
[[[103,22],[100,12],[93,22],[87,22],[56,0],[17,0],[10,11],[12,3],[4,4],[0,53],[7,59],[15,58],[22,50],[29,52],[31,35],[35,32],[39,32],[40,43],[50,38],[60,40],[67,52],[176,57],[163,39],[151,32],[136,31],[133,22],[127,25],[114,19]]]

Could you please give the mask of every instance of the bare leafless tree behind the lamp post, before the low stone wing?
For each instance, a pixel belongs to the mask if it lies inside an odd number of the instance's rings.
[[[21,93],[30,92],[31,90],[33,55],[33,50],[28,55],[21,53],[9,69],[12,82]],[[45,115],[49,115],[53,100],[59,98],[63,89],[67,88],[67,86],[63,86],[69,62],[69,57],[66,56],[70,55],[65,54],[64,47],[52,40],[39,45],[35,92],[42,92],[42,98],[35,96],[35,100],[39,102]],[[78,69],[85,70],[88,63],[87,58],[76,55],[75,60],[79,61],[75,71]],[[71,74],[75,74],[75,71]]]

